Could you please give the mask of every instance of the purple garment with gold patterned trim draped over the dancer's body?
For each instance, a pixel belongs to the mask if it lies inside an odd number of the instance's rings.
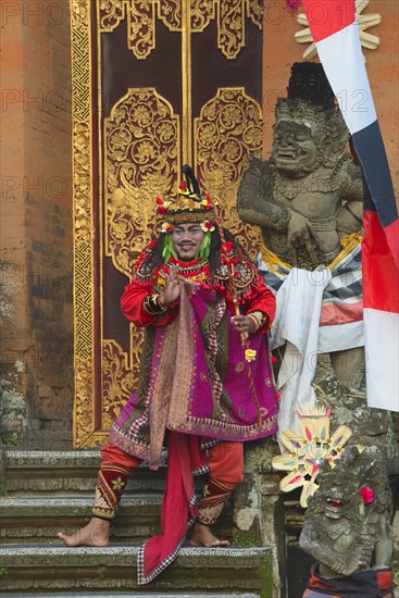
[[[157,469],[165,429],[230,441],[277,431],[266,335],[248,338],[257,351],[249,364],[251,387],[230,317],[215,290],[184,285],[177,317],[146,328],[138,388],[115,420],[113,445]]]

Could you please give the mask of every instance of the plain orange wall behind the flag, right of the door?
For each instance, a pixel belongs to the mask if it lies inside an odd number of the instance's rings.
[[[294,35],[303,30],[298,25],[297,14],[286,8],[286,0],[265,0],[264,11],[264,158],[269,158],[272,146],[274,107],[277,97],[286,97],[290,67],[302,61],[302,53],[309,43],[298,43]],[[303,12],[302,9],[299,12]],[[371,0],[364,14],[379,13],[383,21],[367,29],[379,37],[377,50],[363,50],[366,68],[378,115],[390,172],[398,198],[399,191],[399,83],[398,83],[398,23],[399,3],[392,0]]]

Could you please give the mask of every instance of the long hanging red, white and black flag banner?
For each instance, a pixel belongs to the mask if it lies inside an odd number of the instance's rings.
[[[399,411],[399,220],[364,66],[354,0],[303,0],[364,184],[363,316],[369,407]]]

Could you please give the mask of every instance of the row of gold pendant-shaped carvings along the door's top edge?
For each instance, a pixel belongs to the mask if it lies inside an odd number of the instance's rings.
[[[127,15],[127,47],[146,59],[155,48],[155,18],[171,32],[182,32],[182,2],[190,11],[190,33],[203,32],[217,20],[217,47],[234,60],[245,46],[245,18],[262,28],[262,0],[101,0],[98,4],[100,32],[113,32]]]

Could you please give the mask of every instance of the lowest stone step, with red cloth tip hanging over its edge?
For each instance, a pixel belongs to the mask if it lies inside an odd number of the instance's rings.
[[[192,596],[204,590],[207,595],[220,596],[235,593],[273,596],[272,555],[267,548],[182,548],[173,565],[146,587],[137,585],[136,546],[74,549],[7,546],[1,548],[0,556],[2,596],[10,590],[29,591],[29,596],[43,591],[83,596],[88,590],[97,597],[104,591],[126,590],[140,590],[149,596],[160,591],[169,596],[179,593],[185,596],[189,591]]]

